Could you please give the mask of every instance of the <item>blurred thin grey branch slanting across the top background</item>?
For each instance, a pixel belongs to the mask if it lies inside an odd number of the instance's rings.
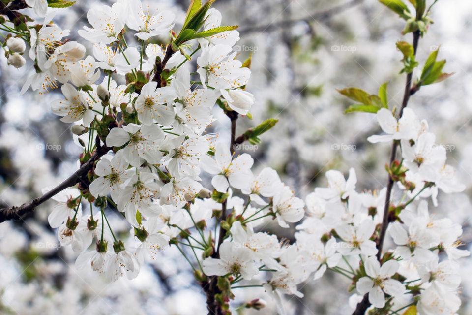
[[[331,18],[333,15],[341,13],[351,7],[356,6],[357,4],[360,4],[362,1],[363,0],[351,0],[349,2],[334,6],[330,9],[327,9],[321,12],[314,12],[313,14],[309,14],[302,18],[288,19],[288,20],[278,21],[278,22],[274,22],[274,23],[270,23],[266,25],[250,26],[245,29],[239,30],[239,34],[244,35],[247,33],[254,33],[254,32],[271,32],[277,28],[284,28],[286,26],[289,26],[289,25],[292,25],[301,21],[305,21],[308,24],[310,21],[313,21],[313,20],[325,21]]]

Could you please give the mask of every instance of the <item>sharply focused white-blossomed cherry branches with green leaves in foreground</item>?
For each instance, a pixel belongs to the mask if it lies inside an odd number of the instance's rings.
[[[245,142],[259,143],[277,120],[236,134],[238,120],[251,118],[257,106],[245,91],[251,57],[237,60],[237,26],[222,25],[214,0],[192,0],[178,32],[173,12],[143,7],[140,0],[97,6],[87,14],[90,26],[77,31],[92,45],[91,54],[53,22],[55,9],[74,2],[2,1],[2,47],[10,65],[27,64],[29,43],[34,71],[22,93],[60,87],[63,98],[51,111],[72,125],[83,152],[69,178],[29,203],[1,209],[0,222],[56,200],[48,221],[60,244],[77,253],[78,269],[109,281],[136,278],[146,261],[176,247],[207,296],[208,314],[265,307],[257,296],[231,305],[236,289],[249,287],[264,288],[285,314],[283,295],[303,296],[297,285],[317,281],[328,269],[352,281],[353,315],[455,314],[461,303],[457,260],[469,252],[459,248],[462,227],[430,215],[427,198],[436,206],[439,190],[464,186],[427,122],[407,107],[421,87],[450,76],[442,72],[438,50],[416,60],[437,0],[379,1],[405,21],[402,34],[413,36],[411,44],[396,43],[406,74],[401,106],[389,106],[386,83],[376,95],[339,92],[355,101],[347,113],[376,115],[383,134],[368,137],[370,143],[391,143],[386,186],[357,192],[354,169],[347,179],[329,170],[328,187],[305,201],[274,169],[254,174],[253,158],[238,153]],[[41,19],[19,11],[27,7]],[[167,46],[153,41],[162,35],[169,36]],[[416,68],[421,71],[413,76]],[[207,133],[215,108],[229,120],[230,139]],[[134,244],[125,246],[114,233],[107,218],[113,211],[122,214]],[[265,232],[267,220],[281,228],[300,222],[295,241]],[[387,235],[392,248],[383,246]]]

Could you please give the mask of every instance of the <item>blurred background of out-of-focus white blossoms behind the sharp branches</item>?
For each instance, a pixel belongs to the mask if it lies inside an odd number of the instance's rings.
[[[102,1],[111,5],[111,1]],[[143,1],[145,4],[147,1]],[[176,30],[188,0],[149,1],[177,14]],[[430,4],[432,0],[428,1]],[[87,24],[86,12],[96,1],[78,0],[60,10],[55,22],[71,30],[71,38]],[[400,105],[405,75],[399,75],[402,55],[395,42],[411,42],[401,35],[404,22],[376,0],[217,0],[223,25],[239,25],[241,40],[235,50],[244,60],[252,54],[252,76],[247,90],[256,97],[253,119],[239,119],[237,133],[266,118],[277,126],[262,136],[258,146],[245,146],[256,164],[275,168],[282,180],[304,198],[316,186],[325,186],[324,173],[332,168],[347,173],[354,167],[357,190],[381,189],[386,184],[384,164],[390,144],[371,145],[367,136],[380,132],[372,114],[344,115],[351,104],[336,92],[359,87],[376,93],[388,84],[390,107]],[[34,16],[31,12],[31,16]],[[439,0],[432,10],[434,24],[420,39],[417,60],[423,64],[438,48],[446,59],[446,81],[423,87],[409,107],[425,118],[437,143],[448,149],[448,163],[456,167],[467,189],[440,193],[439,206],[430,212],[463,225],[462,242],[472,241],[472,1]],[[165,43],[165,38],[162,39]],[[15,69],[0,58],[0,206],[20,205],[55,186],[77,168],[81,149],[68,124],[50,112],[58,91],[45,95],[19,95],[31,67]],[[229,120],[216,109],[212,130],[229,139]],[[142,266],[133,281],[108,283],[74,268],[75,254],[61,248],[56,231],[47,223],[54,202],[44,204],[24,221],[0,224],[0,314],[206,314],[205,296],[193,282],[191,270],[175,248],[161,259]],[[119,217],[111,215],[115,226]],[[290,230],[267,225],[266,230],[293,240]],[[122,224],[123,236],[129,226]],[[387,240],[388,242],[390,240]],[[387,243],[388,243],[387,242]],[[462,260],[463,306],[459,314],[472,314],[472,258]],[[289,314],[351,314],[349,282],[334,273],[300,286],[305,296],[287,296]],[[236,290],[235,290],[236,291]],[[259,314],[277,314],[263,290],[241,290],[232,306],[263,298]],[[240,314],[256,314],[241,311]]]

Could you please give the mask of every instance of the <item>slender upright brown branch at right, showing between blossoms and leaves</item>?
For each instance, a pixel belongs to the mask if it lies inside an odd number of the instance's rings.
[[[418,48],[418,40],[419,40],[420,33],[419,31],[413,32],[413,51],[414,55],[416,55],[416,50]],[[400,112],[398,114],[398,119],[400,119],[403,115],[403,109],[407,107],[408,105],[408,100],[410,99],[410,96],[412,95],[412,78],[413,78],[413,71],[407,74],[407,81],[405,83],[405,92],[403,95],[403,101],[402,101],[402,107],[400,108]],[[415,91],[416,92],[416,91]],[[397,154],[397,148],[398,148],[398,141],[394,140],[392,144],[392,150],[390,154],[390,164],[395,160],[396,154]],[[391,176],[388,176],[388,183],[387,183],[387,191],[385,195],[385,205],[383,207],[383,219],[382,219],[382,226],[380,230],[380,235],[379,239],[377,241],[377,259],[381,262],[382,258],[382,249],[383,249],[383,241],[385,240],[385,234],[387,231],[387,226],[388,226],[388,214],[390,210],[390,200],[391,200],[391,195],[392,195],[392,189],[393,189],[393,184],[394,181],[391,178]],[[361,302],[357,304],[357,307],[353,313],[353,315],[364,315],[365,311],[367,308],[370,306],[370,302],[368,300],[368,295],[364,295],[364,298],[362,299]]]

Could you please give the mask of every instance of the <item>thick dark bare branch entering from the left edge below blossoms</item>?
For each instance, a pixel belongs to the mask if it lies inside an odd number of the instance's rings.
[[[42,196],[33,199],[29,203],[24,203],[18,207],[0,209],[0,223],[7,220],[20,220],[24,215],[33,212],[37,206],[54,197],[60,191],[74,186],[77,183],[84,183],[88,186],[89,183],[87,179],[87,173],[94,167],[95,161],[106,154],[109,150],[110,148],[107,146],[97,146],[93,156],[91,156],[87,162],[85,162],[77,171],[75,171],[74,174],[69,176],[69,178],[67,178],[55,188],[49,190]]]

